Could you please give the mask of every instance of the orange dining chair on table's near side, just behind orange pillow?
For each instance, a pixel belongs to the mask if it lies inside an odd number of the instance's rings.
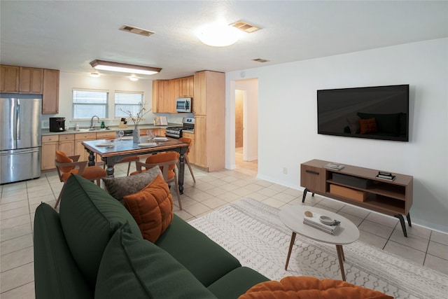
[[[146,169],[151,169],[158,165],[165,182],[169,185],[174,181],[174,184],[176,186],[177,199],[179,200],[179,209],[182,210],[181,193],[179,193],[179,183],[176,174],[176,165],[178,162],[179,153],[175,151],[167,151],[165,153],[150,155],[148,158],[146,158],[145,162],[136,162],[137,172],[132,172],[131,175],[145,172]]]

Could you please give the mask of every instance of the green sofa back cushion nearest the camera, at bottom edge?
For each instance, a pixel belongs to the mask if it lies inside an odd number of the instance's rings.
[[[99,265],[95,298],[215,298],[172,256],[123,225]]]

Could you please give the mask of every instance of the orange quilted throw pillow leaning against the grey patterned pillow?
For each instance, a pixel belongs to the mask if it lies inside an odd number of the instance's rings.
[[[173,197],[160,174],[143,190],[123,199],[139,225],[141,235],[153,243],[173,220]]]

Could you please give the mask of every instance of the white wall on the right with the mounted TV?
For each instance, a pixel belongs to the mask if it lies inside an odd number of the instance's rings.
[[[232,90],[243,77],[258,78],[260,178],[302,189],[300,163],[311,159],[409,174],[413,223],[448,232],[448,39],[229,72],[227,140]],[[316,90],[396,84],[410,85],[409,142],[317,134]]]

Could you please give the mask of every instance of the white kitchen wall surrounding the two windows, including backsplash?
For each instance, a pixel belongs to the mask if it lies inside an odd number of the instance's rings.
[[[129,78],[119,78],[113,76],[101,76],[99,78],[92,78],[88,74],[74,74],[64,71],[59,75],[59,113],[55,115],[45,114],[42,120],[48,120],[50,117],[64,117],[66,118],[65,125],[73,128],[76,123],[80,127],[90,126],[89,121],[72,120],[72,90],[73,88],[98,89],[109,90],[109,103],[113,103],[114,92],[117,91],[137,91],[144,92],[144,101],[146,109],[151,109],[153,103],[153,81],[139,80],[130,81]],[[154,116],[167,116],[169,123],[182,123],[183,117],[193,117],[190,113],[157,113],[152,112],[146,114],[145,119],[141,124],[153,124]],[[118,126],[120,119],[113,119],[113,105],[109,105],[109,119],[104,122],[106,125]],[[132,120],[128,125],[133,125]]]

